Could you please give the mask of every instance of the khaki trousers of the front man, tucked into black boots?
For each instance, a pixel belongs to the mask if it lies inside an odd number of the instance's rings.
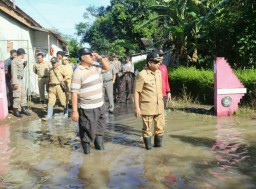
[[[142,136],[150,137],[152,135],[163,135],[164,134],[164,113],[159,115],[142,115]],[[151,126],[154,124],[154,133],[151,132]]]

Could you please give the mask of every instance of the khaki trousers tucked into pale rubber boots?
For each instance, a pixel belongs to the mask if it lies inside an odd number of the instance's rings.
[[[66,106],[66,95],[62,91],[60,85],[51,86],[49,85],[49,102],[48,105],[54,106],[56,103],[57,97],[60,100],[62,106]]]

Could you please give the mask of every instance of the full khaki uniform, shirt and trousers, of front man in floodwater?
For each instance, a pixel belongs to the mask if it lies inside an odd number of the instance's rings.
[[[165,122],[161,72],[141,71],[136,77],[134,87],[135,92],[139,93],[143,137],[152,136],[152,123],[155,125],[154,135],[163,135]]]

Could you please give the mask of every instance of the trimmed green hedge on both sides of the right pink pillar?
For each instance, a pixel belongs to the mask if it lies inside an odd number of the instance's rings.
[[[247,88],[247,93],[241,100],[241,105],[255,107],[256,105],[256,71],[253,69],[236,70],[239,80]],[[213,70],[196,69],[194,67],[171,68],[169,72],[171,91],[174,96],[182,97],[184,89],[193,99],[204,103],[214,103],[214,73]]]

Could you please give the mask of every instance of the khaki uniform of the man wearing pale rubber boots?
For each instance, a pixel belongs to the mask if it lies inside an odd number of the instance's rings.
[[[62,91],[60,86],[60,81],[66,77],[66,73],[64,72],[62,66],[58,66],[54,69],[57,77],[55,76],[55,73],[53,71],[54,68],[50,69],[50,82],[49,82],[49,103],[48,105],[54,106],[56,103],[56,98],[58,96],[60,103],[62,106],[66,105],[66,95]]]

